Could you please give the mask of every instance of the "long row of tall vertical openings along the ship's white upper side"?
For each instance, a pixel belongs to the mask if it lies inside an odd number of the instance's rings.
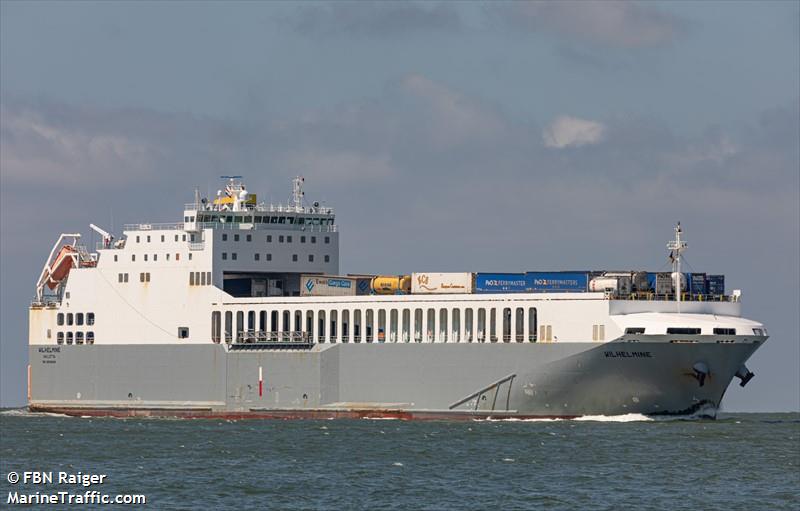
[[[327,315],[327,317],[326,317]],[[315,337],[316,334],[316,337]],[[214,342],[275,338],[317,342],[536,342],[552,341],[552,325],[538,325],[536,308],[356,309],[342,311],[220,311],[211,313]]]

